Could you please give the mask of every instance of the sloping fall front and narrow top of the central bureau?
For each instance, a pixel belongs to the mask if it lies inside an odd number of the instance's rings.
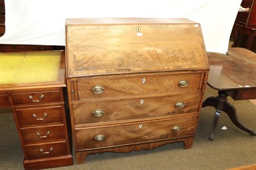
[[[186,18],[66,20],[67,76],[209,70],[200,24]]]

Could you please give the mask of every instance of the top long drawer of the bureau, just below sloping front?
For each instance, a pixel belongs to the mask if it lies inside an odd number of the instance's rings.
[[[166,92],[197,91],[201,73],[195,74],[143,74],[140,76],[106,76],[77,80],[78,99],[158,94]]]

